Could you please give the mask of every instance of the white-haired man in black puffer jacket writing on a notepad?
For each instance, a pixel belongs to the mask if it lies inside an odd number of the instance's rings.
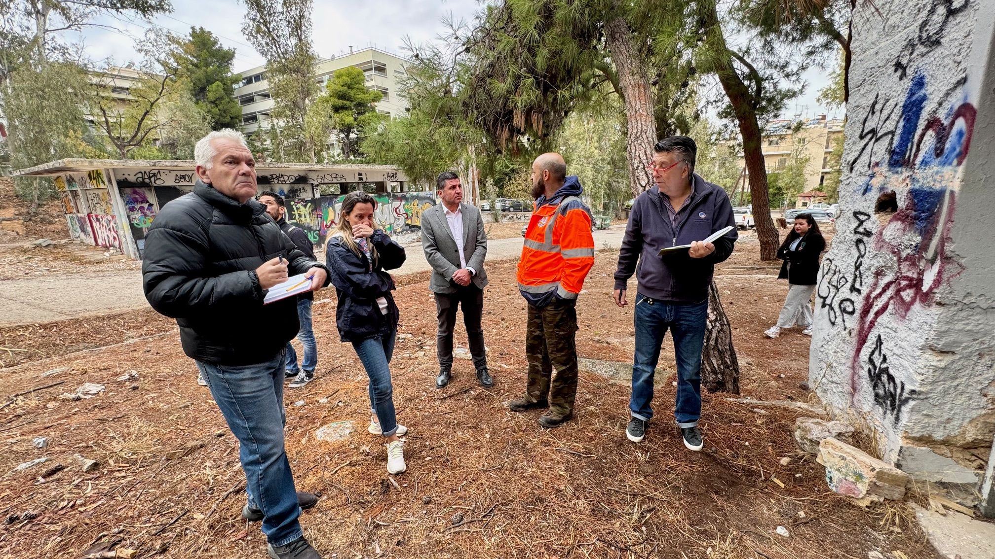
[[[256,161],[240,132],[209,133],[194,157],[193,193],[163,206],[145,236],[145,298],[176,319],[183,351],[239,440],[249,493],[242,516],[263,521],[274,559],[320,559],[298,524],[317,498],[296,491],[284,450],[284,352],[298,333],[297,298],[264,297],[289,274],[322,287],[328,271],[254,199]]]

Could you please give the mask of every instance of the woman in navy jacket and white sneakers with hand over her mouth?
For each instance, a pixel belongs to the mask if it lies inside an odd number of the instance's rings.
[[[338,226],[328,239],[325,258],[335,285],[335,322],[342,341],[352,343],[369,377],[372,417],[368,431],[387,438],[387,471],[400,473],[408,428],[397,424],[390,358],[394,353],[399,313],[394,280],[385,270],[400,268],[404,248],[380,229],[373,229],[376,200],[365,192],[342,199]]]

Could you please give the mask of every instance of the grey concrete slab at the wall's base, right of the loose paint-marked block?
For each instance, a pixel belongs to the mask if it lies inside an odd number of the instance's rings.
[[[898,449],[896,466],[914,481],[923,483],[929,492],[945,492],[950,499],[968,507],[978,504],[984,475],[981,470],[960,466],[931,449],[911,445]]]

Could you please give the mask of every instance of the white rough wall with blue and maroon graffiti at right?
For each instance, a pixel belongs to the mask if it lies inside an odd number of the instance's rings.
[[[810,380],[874,427],[892,462],[921,445],[977,468],[995,433],[995,160],[979,155],[995,143],[995,126],[979,125],[992,121],[993,14],[980,0],[854,12]]]

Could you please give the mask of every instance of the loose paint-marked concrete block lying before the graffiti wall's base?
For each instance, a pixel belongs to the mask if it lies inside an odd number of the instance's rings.
[[[899,500],[905,496],[907,473],[842,441],[823,440],[817,460],[826,466],[829,487],[841,495],[859,501]]]

